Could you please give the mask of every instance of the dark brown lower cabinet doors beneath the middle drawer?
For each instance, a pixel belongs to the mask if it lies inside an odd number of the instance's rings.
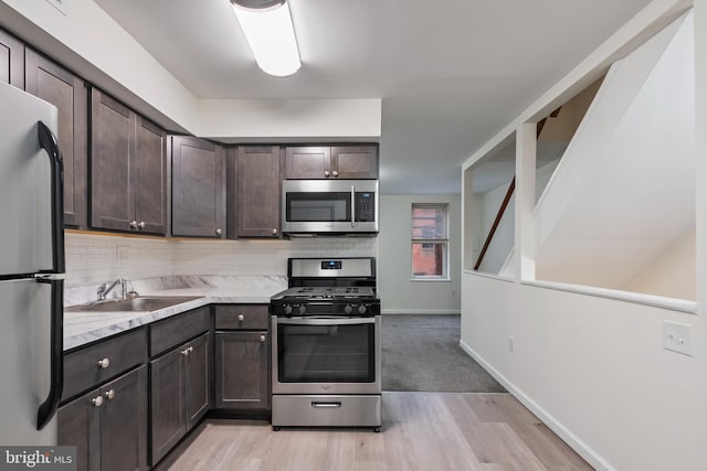
[[[209,410],[209,350],[204,333],[150,362],[152,465]]]

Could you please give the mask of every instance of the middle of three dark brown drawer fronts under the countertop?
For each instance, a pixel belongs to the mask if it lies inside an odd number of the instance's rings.
[[[184,343],[209,330],[209,307],[194,309],[150,324],[150,356]]]

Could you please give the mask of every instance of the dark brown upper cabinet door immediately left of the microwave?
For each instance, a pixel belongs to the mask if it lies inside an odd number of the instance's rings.
[[[239,237],[277,236],[282,186],[279,148],[239,146],[236,180],[236,235]]]

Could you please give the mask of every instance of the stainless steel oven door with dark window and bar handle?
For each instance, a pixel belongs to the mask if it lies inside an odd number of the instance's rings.
[[[273,317],[273,394],[380,394],[380,315]]]

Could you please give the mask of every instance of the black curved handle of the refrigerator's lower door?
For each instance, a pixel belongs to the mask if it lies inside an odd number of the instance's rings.
[[[64,280],[36,278],[38,282],[52,286],[51,320],[51,383],[46,399],[40,405],[36,415],[36,429],[41,430],[54,417],[64,387]]]

